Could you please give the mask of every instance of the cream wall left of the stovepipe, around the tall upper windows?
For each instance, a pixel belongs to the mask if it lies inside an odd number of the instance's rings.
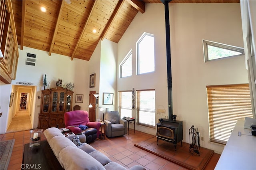
[[[148,74],[136,75],[136,42],[144,32],[154,34],[155,42],[155,71]],[[165,109],[164,115],[156,115],[158,119],[168,117],[168,89],[166,65],[166,38],[163,4],[146,4],[146,12],[136,15],[121,40],[118,42],[118,75],[119,65],[132,49],[132,76],[118,78],[117,92],[122,90],[155,89],[156,109]],[[118,105],[118,101],[117,105]],[[136,110],[132,110],[132,117],[136,117]],[[133,126],[131,126],[133,127]],[[155,128],[136,125],[136,130],[156,134]]]

